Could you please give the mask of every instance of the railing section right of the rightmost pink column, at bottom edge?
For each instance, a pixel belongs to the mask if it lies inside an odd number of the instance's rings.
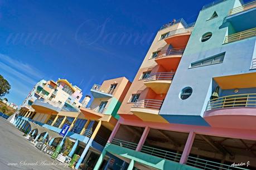
[[[207,161],[205,159],[200,159],[196,157],[191,157],[189,156],[187,158],[187,165],[197,167],[200,169],[205,169],[205,170],[231,170],[231,169],[243,169],[243,170],[249,170],[246,168],[241,168],[241,167],[234,167],[228,165],[228,164],[223,164],[223,163],[218,163],[218,162],[212,162],[212,161]]]

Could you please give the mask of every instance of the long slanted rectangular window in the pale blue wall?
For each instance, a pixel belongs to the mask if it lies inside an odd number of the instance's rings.
[[[201,61],[193,62],[191,63],[190,67],[192,68],[192,67],[200,67],[200,66],[206,66],[211,64],[218,64],[223,62],[224,56],[225,56],[225,52]]]

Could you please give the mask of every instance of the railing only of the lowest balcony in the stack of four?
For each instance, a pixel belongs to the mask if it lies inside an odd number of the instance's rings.
[[[163,104],[163,100],[138,99],[132,107],[160,110],[162,104]]]

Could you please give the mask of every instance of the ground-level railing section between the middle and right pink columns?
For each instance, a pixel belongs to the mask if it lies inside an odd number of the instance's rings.
[[[182,155],[182,154],[170,152],[167,150],[148,147],[146,145],[143,145],[141,152],[150,154],[152,156],[160,157],[163,159],[168,159],[170,161],[175,161],[175,162],[179,162],[181,159],[181,155]]]

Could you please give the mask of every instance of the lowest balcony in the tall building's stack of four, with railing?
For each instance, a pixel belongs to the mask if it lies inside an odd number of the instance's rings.
[[[159,115],[162,103],[163,100],[138,99],[132,106],[131,112],[143,121],[167,123],[167,121]]]

